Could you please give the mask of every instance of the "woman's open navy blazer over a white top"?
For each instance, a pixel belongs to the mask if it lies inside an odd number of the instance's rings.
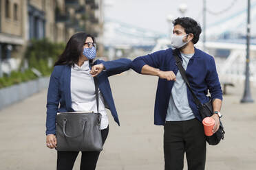
[[[96,60],[94,64],[102,63],[105,66],[105,71],[102,71],[98,78],[98,87],[103,95],[105,104],[109,106],[114,120],[118,125],[119,119],[114,104],[114,99],[111,93],[108,77],[127,71],[131,67],[131,60],[121,58],[119,60],[107,61]],[[50,83],[47,93],[47,117],[46,117],[46,134],[56,134],[55,122],[57,112],[72,112],[71,108],[71,92],[70,92],[70,77],[71,66],[57,65],[54,66],[54,71],[50,77]]]

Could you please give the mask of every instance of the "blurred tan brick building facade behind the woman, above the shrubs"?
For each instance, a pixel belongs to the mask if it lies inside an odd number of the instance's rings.
[[[0,77],[18,69],[30,40],[67,42],[76,32],[103,45],[103,0],[0,0]]]

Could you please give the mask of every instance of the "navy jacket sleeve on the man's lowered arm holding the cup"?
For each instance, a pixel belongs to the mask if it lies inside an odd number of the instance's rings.
[[[209,71],[206,74],[206,84],[207,87],[209,88],[212,99],[222,100],[222,87],[220,86],[215,60],[213,57],[211,57],[209,60]]]

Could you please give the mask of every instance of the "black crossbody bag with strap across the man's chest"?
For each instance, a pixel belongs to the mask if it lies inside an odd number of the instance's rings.
[[[189,84],[189,80],[186,77],[186,71],[184,70],[182,66],[182,62],[177,54],[173,53],[173,56],[176,60],[176,65],[178,66],[178,69],[180,71],[180,75],[182,75],[183,80],[186,82],[186,86],[188,86],[189,90],[192,93],[193,99],[195,101],[196,106],[198,106],[200,115],[202,119],[205,117],[211,117],[213,115],[213,103],[212,100],[208,101],[206,104],[202,104],[198,97],[196,97],[195,93],[193,93],[193,90]],[[220,140],[224,139],[224,127],[222,125],[222,121],[220,121],[220,128],[213,134],[212,136],[206,136],[206,141],[209,143],[209,145],[217,145],[220,143]]]

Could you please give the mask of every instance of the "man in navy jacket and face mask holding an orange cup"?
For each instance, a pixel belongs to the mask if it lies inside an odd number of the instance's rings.
[[[209,101],[208,90],[213,99],[215,120],[213,133],[220,127],[222,89],[212,56],[194,45],[202,31],[200,25],[189,17],[173,21],[171,45],[175,49],[156,51],[136,58],[132,69],[137,73],[159,77],[155,103],[155,125],[164,125],[165,170],[183,169],[184,153],[189,170],[205,167],[206,139],[199,110],[191,91],[187,88],[173,53],[177,53],[186,70],[186,77],[202,104]]]

